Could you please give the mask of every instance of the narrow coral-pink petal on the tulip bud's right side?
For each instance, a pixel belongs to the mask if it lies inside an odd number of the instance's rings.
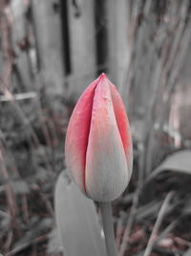
[[[124,151],[127,157],[127,165],[129,178],[132,175],[133,170],[133,145],[132,145],[132,135],[129,125],[129,120],[126,114],[125,106],[123,105],[122,99],[117,92],[117,88],[114,84],[110,83],[112,101],[114,106],[114,111],[117,120],[117,127],[120,133]]]

